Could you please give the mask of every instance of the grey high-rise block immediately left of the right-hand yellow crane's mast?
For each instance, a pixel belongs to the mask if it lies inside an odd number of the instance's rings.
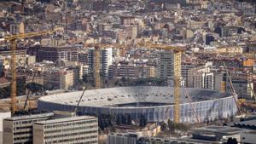
[[[159,51],[156,62],[157,78],[173,78],[174,55],[171,51]]]

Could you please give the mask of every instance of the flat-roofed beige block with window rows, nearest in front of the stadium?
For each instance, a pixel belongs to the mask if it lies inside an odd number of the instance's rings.
[[[41,121],[33,124],[33,142],[46,143],[98,143],[98,120],[81,116]]]

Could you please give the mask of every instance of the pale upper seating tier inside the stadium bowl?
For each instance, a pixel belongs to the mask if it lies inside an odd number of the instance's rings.
[[[192,101],[207,101],[229,96],[227,93],[219,93],[211,89],[186,89]],[[82,91],[49,95],[40,98],[40,101],[49,101],[65,105],[77,105]],[[86,90],[80,106],[87,107],[112,107],[114,105],[150,102],[173,104],[172,87],[137,86],[118,87],[109,89]],[[185,95],[185,89],[181,89],[181,103],[188,103],[189,97]],[[127,106],[128,107],[128,106]]]

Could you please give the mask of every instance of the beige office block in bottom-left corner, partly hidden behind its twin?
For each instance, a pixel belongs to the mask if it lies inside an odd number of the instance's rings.
[[[54,116],[54,113],[33,114],[3,119],[3,143],[32,143],[35,122],[44,121]]]

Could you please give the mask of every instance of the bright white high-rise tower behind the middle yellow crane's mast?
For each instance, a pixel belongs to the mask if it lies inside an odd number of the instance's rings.
[[[108,77],[108,67],[112,65],[113,55],[112,48],[100,49],[100,71],[104,77]],[[89,73],[94,72],[95,66],[95,49],[90,48],[88,52]]]

